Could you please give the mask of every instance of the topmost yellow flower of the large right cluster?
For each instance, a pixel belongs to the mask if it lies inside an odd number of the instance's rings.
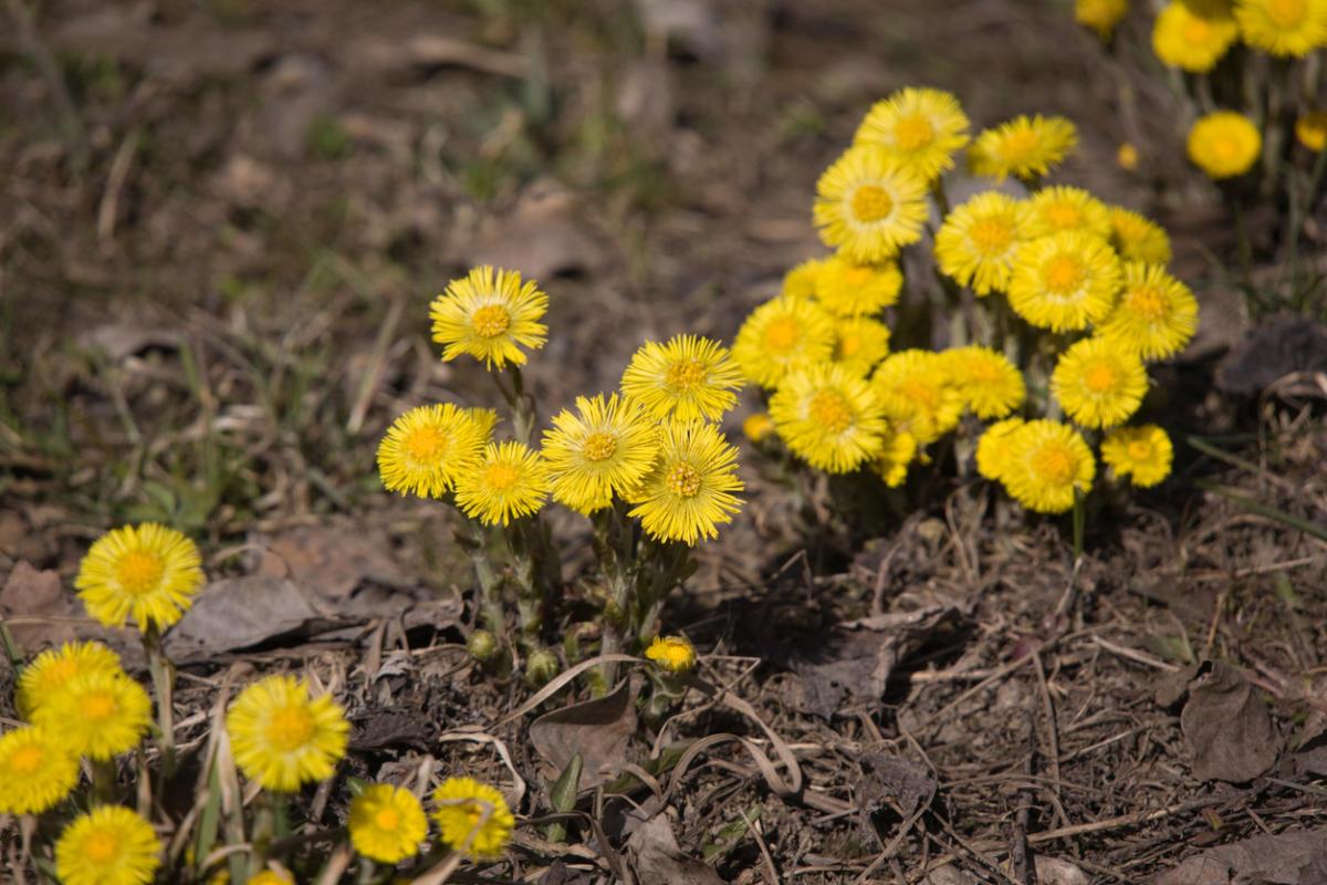
[[[938,89],[906,88],[872,106],[853,145],[878,145],[904,169],[934,180],[954,167],[954,151],[969,141],[958,100]]]

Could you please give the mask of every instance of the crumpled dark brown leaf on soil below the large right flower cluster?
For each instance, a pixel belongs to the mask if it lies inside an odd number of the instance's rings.
[[[790,662],[805,686],[807,707],[828,719],[844,694],[863,699],[881,697],[894,666],[958,610],[957,602],[943,601],[832,628],[813,651],[796,653]]]

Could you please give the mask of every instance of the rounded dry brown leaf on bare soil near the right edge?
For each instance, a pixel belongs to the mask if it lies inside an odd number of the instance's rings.
[[[1189,683],[1180,728],[1198,780],[1251,780],[1277,763],[1282,743],[1267,702],[1225,663],[1205,665]]]

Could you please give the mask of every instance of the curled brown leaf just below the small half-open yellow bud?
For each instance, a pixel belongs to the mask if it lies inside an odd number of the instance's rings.
[[[629,762],[626,747],[636,734],[634,699],[630,682],[622,682],[606,697],[553,710],[531,723],[529,742],[552,766],[552,778],[577,752],[584,760],[581,789],[617,776]]]

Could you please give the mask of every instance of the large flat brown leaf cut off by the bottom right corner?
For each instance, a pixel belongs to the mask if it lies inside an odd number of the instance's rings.
[[[1157,876],[1154,885],[1323,885],[1324,865],[1327,829],[1300,829],[1209,848]]]

